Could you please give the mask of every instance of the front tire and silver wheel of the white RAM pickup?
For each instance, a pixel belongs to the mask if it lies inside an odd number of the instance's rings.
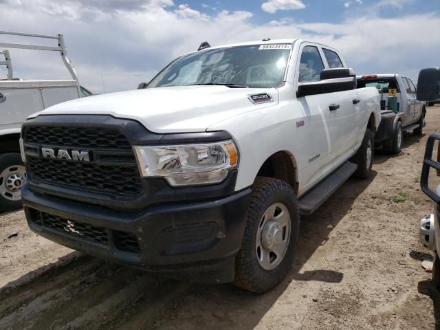
[[[296,194],[285,181],[257,177],[252,190],[234,284],[263,294],[278,285],[292,265],[300,215]]]

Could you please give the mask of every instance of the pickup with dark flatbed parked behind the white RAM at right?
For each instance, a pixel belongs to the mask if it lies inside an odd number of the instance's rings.
[[[421,135],[426,126],[426,102],[417,99],[411,79],[400,74],[358,76],[358,88],[376,87],[380,91],[382,121],[375,144],[388,153],[400,153],[404,131]]]

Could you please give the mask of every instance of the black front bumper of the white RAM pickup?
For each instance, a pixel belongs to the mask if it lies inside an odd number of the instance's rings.
[[[21,193],[30,228],[51,241],[152,272],[226,283],[234,276],[251,190],[136,212],[42,195],[28,185]],[[130,250],[121,240],[137,246]]]

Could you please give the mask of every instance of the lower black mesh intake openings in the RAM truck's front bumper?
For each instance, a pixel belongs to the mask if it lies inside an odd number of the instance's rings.
[[[98,225],[90,225],[81,221],[65,219],[54,214],[30,209],[30,221],[43,228],[62,232],[69,236],[80,237],[87,241],[92,241],[100,245],[109,245],[109,233],[113,234],[113,243],[117,250],[130,254],[140,254],[140,246],[137,237],[129,232],[119,230],[107,230]]]

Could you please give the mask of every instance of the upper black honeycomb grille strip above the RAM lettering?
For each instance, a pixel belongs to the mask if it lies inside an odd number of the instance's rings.
[[[30,126],[25,130],[25,141],[81,148],[131,148],[126,137],[116,129]]]

